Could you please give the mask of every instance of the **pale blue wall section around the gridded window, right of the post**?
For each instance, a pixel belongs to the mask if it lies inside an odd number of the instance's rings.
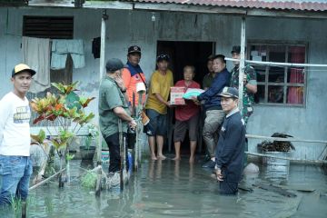
[[[263,25],[264,24],[264,25]],[[327,31],[322,26],[327,20],[250,18],[247,39],[308,42],[308,63],[327,64]],[[326,68],[307,71],[306,104],[304,107],[257,105],[249,122],[250,134],[271,135],[275,132],[291,134],[296,138],[327,140],[327,84]],[[325,144],[293,143],[296,157],[315,158]],[[253,147],[252,147],[253,149]]]

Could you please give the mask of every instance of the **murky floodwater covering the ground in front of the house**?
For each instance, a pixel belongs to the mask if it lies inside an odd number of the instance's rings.
[[[225,196],[201,163],[190,165],[187,157],[144,160],[124,192],[112,188],[97,198],[79,183],[77,175],[84,172],[79,165],[73,162],[72,182],[64,188],[53,181],[30,192],[27,217],[327,217],[327,174],[320,166],[291,164],[280,172],[260,166],[261,173],[243,178],[243,187],[252,193]],[[296,196],[263,190],[261,183],[282,184]]]

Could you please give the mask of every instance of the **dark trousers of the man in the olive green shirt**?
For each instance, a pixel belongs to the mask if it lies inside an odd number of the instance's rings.
[[[123,134],[125,140],[127,139],[127,134]],[[127,140],[126,140],[127,142]],[[118,172],[121,168],[121,157],[120,157],[120,146],[119,146],[119,133],[109,135],[105,138],[105,143],[108,144],[109,155],[110,155],[110,163],[109,163],[109,173],[110,172]],[[126,144],[126,170],[128,171],[128,155],[127,155],[127,144]]]

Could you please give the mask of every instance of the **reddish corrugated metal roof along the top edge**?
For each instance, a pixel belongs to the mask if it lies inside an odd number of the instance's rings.
[[[128,2],[213,5],[276,10],[327,11],[327,0],[129,0]]]

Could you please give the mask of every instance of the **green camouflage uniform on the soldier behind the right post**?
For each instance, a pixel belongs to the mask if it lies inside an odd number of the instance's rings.
[[[254,68],[251,65],[246,65],[244,74],[246,74],[246,81],[249,84],[256,85],[256,74]],[[231,87],[239,88],[239,65],[235,66],[231,71]],[[254,94],[249,93],[243,86],[243,111],[242,116],[245,123],[245,126],[249,120],[251,114],[253,114],[253,104],[254,104]]]

